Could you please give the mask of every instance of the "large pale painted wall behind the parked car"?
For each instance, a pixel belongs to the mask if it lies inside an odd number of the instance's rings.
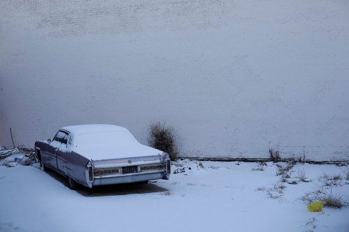
[[[0,1],[0,144],[110,123],[181,155],[349,160],[349,1]]]

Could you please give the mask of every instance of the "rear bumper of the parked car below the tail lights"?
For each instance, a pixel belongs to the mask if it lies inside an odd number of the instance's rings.
[[[130,173],[122,176],[108,176],[103,178],[95,178],[92,186],[97,185],[115,185],[123,183],[135,183],[147,180],[158,180],[165,179],[168,180],[169,175],[165,171],[155,172],[155,173]]]

